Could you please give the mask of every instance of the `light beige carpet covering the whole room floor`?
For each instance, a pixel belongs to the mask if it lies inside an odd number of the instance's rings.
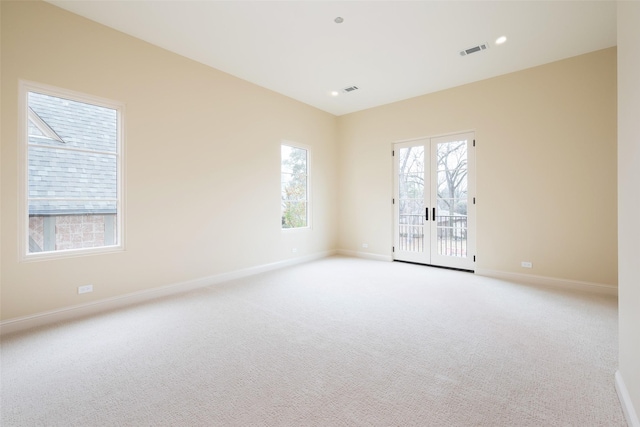
[[[614,298],[334,257],[5,336],[2,426],[624,426]]]

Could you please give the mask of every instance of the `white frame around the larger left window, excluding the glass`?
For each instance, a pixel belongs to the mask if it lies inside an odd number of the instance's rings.
[[[116,244],[93,248],[64,249],[48,252],[29,252],[29,92],[65,98],[109,108],[116,111]],[[100,98],[55,86],[20,80],[18,82],[18,250],[20,262],[51,260],[87,255],[107,254],[125,250],[125,197],[124,197],[124,103]]]

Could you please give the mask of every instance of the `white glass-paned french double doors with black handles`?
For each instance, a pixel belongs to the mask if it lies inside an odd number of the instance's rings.
[[[394,259],[473,270],[474,134],[394,144]]]

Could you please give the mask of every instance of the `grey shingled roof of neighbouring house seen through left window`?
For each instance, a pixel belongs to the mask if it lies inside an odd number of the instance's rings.
[[[116,111],[35,92],[29,109],[29,214],[115,213]]]

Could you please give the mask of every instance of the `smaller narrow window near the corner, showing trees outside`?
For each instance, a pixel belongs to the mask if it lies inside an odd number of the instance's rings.
[[[309,152],[281,146],[282,228],[309,226]]]

